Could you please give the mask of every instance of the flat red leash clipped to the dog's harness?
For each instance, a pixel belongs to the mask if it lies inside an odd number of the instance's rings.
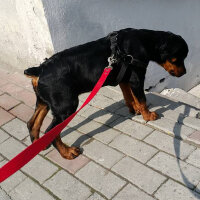
[[[110,65],[110,63],[109,63]],[[58,124],[56,127],[47,132],[39,140],[28,146],[25,150],[19,153],[16,157],[10,160],[7,164],[0,168],[0,183],[7,179],[9,176],[14,174],[16,171],[21,169],[25,164],[32,160],[40,151],[42,151],[47,145],[49,145],[57,135],[69,124],[69,122],[75,117],[75,115],[85,107],[97,94],[99,89],[104,84],[106,78],[108,77],[112,67],[108,66],[104,69],[103,74],[95,85],[94,89],[85,100],[81,108],[79,108],[75,113],[70,115],[65,121]]]

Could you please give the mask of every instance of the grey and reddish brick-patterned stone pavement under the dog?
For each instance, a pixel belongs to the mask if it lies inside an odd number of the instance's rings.
[[[22,74],[0,75],[3,166],[30,145],[26,122],[35,95]],[[200,110],[181,101],[187,98],[146,96],[160,115],[156,121],[129,114],[119,87],[102,88],[62,132],[63,141],[83,154],[69,161],[53,147],[42,151],[0,184],[0,200],[200,199]],[[48,114],[42,133],[51,120]]]

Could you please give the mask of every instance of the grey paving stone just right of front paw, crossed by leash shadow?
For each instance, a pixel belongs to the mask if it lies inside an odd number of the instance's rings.
[[[178,138],[186,139],[188,135],[195,130],[177,122],[171,121],[166,118],[157,119],[155,121],[149,121],[148,124],[163,130],[164,132],[176,136]]]

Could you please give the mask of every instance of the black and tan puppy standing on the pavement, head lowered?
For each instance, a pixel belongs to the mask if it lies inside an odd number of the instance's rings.
[[[125,55],[137,60],[128,63],[120,81],[123,61],[114,63],[113,70],[104,86],[119,84],[129,111],[141,114],[146,121],[156,120],[156,112],[150,112],[146,106],[144,94],[145,73],[149,61],[154,61],[172,76],[180,77],[186,73],[184,59],[188,54],[185,40],[171,32],[146,29],[123,29],[117,31],[117,47]],[[51,58],[31,67],[24,74],[32,78],[37,101],[35,112],[27,123],[32,142],[39,139],[42,122],[51,110],[53,120],[47,130],[64,121],[78,107],[78,96],[93,89],[111,56],[111,40],[106,36],[80,46],[56,53]],[[143,63],[140,67],[138,63]],[[133,73],[134,76],[130,77]],[[52,142],[62,157],[74,159],[81,151],[78,147],[68,147],[60,135]]]

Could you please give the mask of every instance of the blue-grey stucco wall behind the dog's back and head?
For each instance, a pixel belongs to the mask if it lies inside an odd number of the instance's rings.
[[[172,31],[189,45],[187,75],[169,77],[151,63],[145,87],[154,90],[180,87],[188,90],[200,82],[199,0],[42,0],[55,51],[95,40],[125,27]],[[164,82],[157,84],[160,79]]]

